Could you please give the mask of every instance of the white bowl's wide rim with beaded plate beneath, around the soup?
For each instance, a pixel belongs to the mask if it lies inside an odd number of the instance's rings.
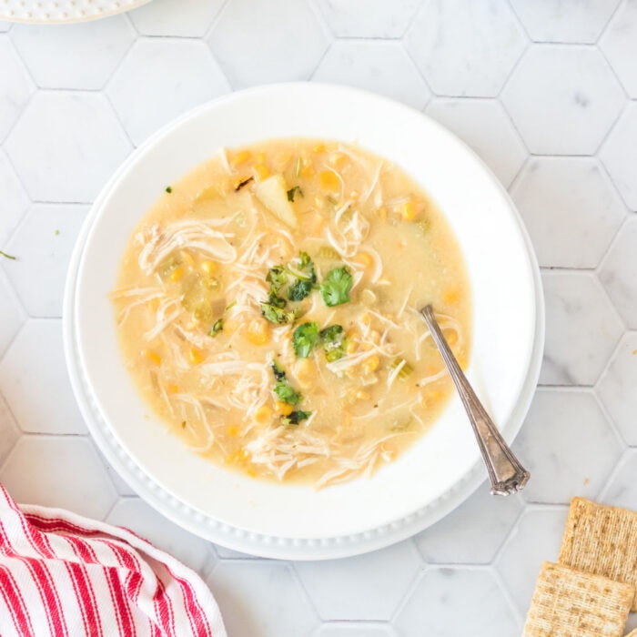
[[[484,471],[460,401],[372,479],[315,491],[243,478],[192,454],[148,414],[119,357],[106,297],[130,232],[167,183],[220,146],[277,136],[356,140],[406,168],[438,201],[474,292],[469,377],[510,441],[539,373],[541,287],[520,219],[480,160],[420,113],[360,91],[296,84],[228,96],[167,126],[111,179],[66,289],[69,369],[97,443],[137,491],[190,531],[272,557],[337,557],[425,528],[478,486]]]

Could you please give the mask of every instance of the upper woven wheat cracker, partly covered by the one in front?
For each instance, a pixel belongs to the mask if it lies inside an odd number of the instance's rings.
[[[637,513],[573,498],[558,562],[637,587]]]

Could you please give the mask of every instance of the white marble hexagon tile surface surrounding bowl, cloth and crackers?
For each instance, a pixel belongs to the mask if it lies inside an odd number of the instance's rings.
[[[0,23],[0,249],[17,257],[0,257],[0,480],[174,552],[231,637],[519,634],[571,496],[637,509],[636,59],[635,0],[154,0]],[[515,443],[522,495],[482,488],[389,549],[291,563],[181,531],[110,470],[66,379],[61,297],[82,220],[136,145],[213,97],[301,79],[393,96],[475,148],[529,227],[547,339]]]

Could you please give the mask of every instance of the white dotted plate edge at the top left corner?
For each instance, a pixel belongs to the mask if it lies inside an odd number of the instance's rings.
[[[150,0],[0,0],[0,20],[62,24],[96,20]]]

